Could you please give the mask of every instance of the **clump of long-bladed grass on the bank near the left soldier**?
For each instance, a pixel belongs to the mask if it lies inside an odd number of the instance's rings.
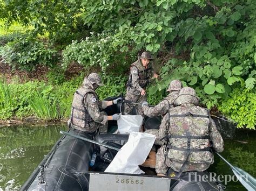
[[[56,98],[42,96],[39,92],[33,96],[31,100],[33,113],[44,121],[59,119],[63,114],[59,114],[58,102]],[[63,111],[61,111],[63,112]]]

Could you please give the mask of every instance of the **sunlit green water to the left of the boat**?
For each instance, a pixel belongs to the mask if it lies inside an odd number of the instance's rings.
[[[0,128],[0,190],[21,188],[65,129],[65,124]]]

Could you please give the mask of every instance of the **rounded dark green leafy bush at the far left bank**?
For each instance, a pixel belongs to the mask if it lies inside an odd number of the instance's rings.
[[[0,47],[3,61],[12,68],[31,71],[38,65],[52,67],[57,51],[31,35],[23,35]]]

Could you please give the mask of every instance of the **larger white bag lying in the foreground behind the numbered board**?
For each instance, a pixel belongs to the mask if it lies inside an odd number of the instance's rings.
[[[149,133],[131,132],[127,143],[120,148],[105,172],[144,173],[138,165],[142,165],[154,144],[156,136]]]

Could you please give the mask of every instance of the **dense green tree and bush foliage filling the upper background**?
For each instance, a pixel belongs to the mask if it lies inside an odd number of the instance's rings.
[[[138,52],[151,51],[160,68],[160,79],[148,89],[151,103],[179,79],[196,89],[206,107],[217,107],[248,128],[255,121],[250,101],[232,102],[238,110],[248,108],[238,112],[240,117],[227,108],[240,92],[255,96],[255,12],[253,0],[0,1],[6,25],[32,25],[32,39],[47,34],[63,48],[64,69],[75,61],[114,78],[127,71]],[[54,50],[29,41],[5,44],[5,60],[23,69],[33,68],[31,63],[50,66]],[[34,56],[26,54],[28,49]]]

